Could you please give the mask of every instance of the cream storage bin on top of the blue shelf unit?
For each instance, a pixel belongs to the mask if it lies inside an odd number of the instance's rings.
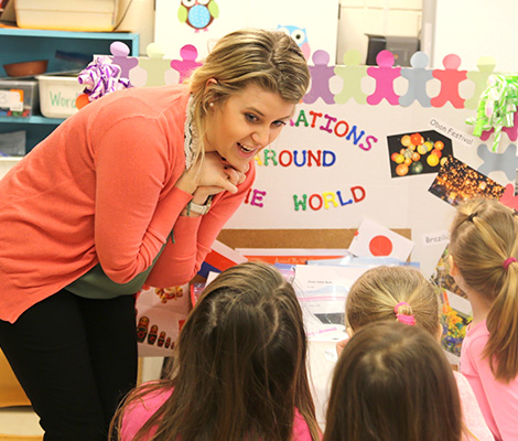
[[[118,0],[14,0],[20,28],[112,31]]]

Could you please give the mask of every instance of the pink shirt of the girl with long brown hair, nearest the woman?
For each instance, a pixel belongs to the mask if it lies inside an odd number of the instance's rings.
[[[171,396],[172,389],[155,391],[145,396],[145,399],[133,401],[122,417],[122,428],[120,431],[121,441],[131,441],[139,429],[148,421],[151,416],[162,406]],[[144,440],[151,439],[157,429],[151,430]],[[293,440],[294,441],[313,441],[310,428],[304,418],[295,409],[293,419]]]

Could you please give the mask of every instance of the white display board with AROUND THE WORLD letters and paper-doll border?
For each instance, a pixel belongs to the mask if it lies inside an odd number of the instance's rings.
[[[411,67],[396,67],[382,51],[376,66],[364,66],[349,51],[333,65],[326,51],[312,51],[310,89],[279,138],[256,157],[253,187],[222,241],[247,248],[269,237],[279,247],[291,238],[307,248],[320,237],[315,248],[322,240],[347,248],[370,219],[404,232],[414,243],[411,260],[430,276],[447,245],[454,206],[478,191],[500,198],[516,181],[516,123],[495,142],[490,130],[474,137],[466,122],[477,115],[497,62],[486,56],[466,71],[462,56],[449,54],[443,67],[430,68],[418,52]],[[177,82],[182,65],[190,65],[182,56],[138,62],[128,74],[133,86],[151,76],[154,85]]]

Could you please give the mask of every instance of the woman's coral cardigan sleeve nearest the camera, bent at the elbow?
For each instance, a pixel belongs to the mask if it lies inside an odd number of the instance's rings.
[[[151,265],[192,195],[164,191],[174,164],[153,119],[122,119],[95,148],[96,252],[105,273],[126,283]]]

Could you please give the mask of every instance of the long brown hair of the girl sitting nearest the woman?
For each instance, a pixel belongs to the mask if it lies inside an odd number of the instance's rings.
[[[119,420],[128,405],[168,387],[171,397],[136,441],[153,427],[153,441],[288,441],[295,407],[316,441],[306,351],[292,286],[268,265],[238,265],[204,290],[188,315],[172,378],[133,392]]]

